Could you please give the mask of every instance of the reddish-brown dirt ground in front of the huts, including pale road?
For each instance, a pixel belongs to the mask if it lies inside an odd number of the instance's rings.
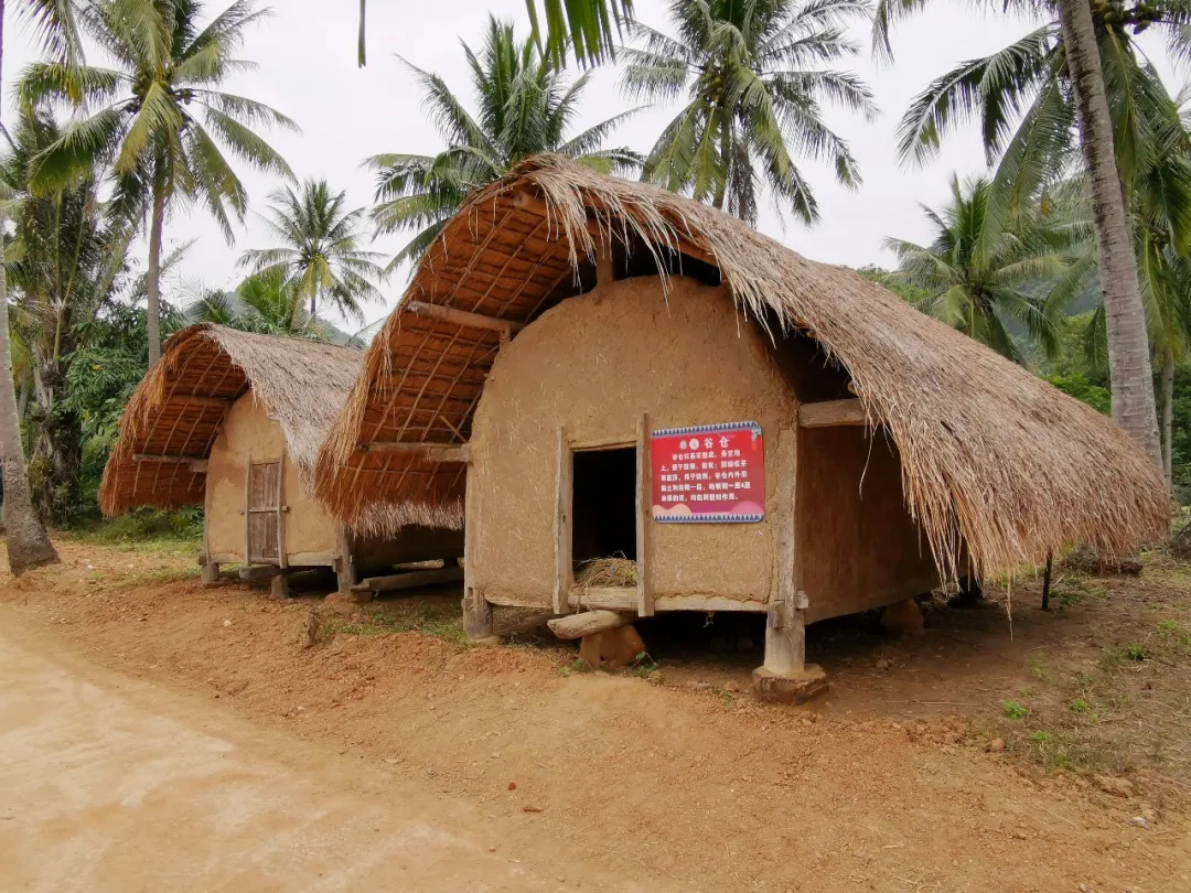
[[[523,616],[463,645],[449,594],[344,617],[60,548],[0,577],[0,889],[1191,888],[1174,566],[1018,585],[1012,638],[817,625],[833,687],[791,708],[734,618],[581,674]]]

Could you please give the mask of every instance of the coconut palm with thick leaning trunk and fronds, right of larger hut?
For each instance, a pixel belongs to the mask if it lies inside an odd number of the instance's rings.
[[[878,1],[874,17],[878,52],[888,54],[888,32],[894,20],[925,2]],[[975,106],[986,110],[986,143],[996,143],[1014,132],[1012,119],[1028,105],[1023,126],[1015,136],[1016,145],[1006,146],[1002,162],[1003,167],[1009,163],[1011,170],[1030,156],[1054,157],[1061,143],[1073,142],[1073,124],[1078,124],[1074,145],[1087,171],[1104,291],[1112,419],[1137,441],[1155,464],[1161,464],[1146,323],[1125,195],[1130,168],[1136,162],[1131,152],[1141,148],[1123,139],[1131,124],[1127,115],[1130,111],[1145,110],[1130,108],[1121,100],[1133,96],[1142,86],[1137,73],[1147,68],[1137,65],[1129,32],[1136,35],[1149,27],[1162,31],[1172,54],[1187,58],[1191,55],[1191,29],[1187,27],[1191,1],[1166,0],[1159,7],[1140,0],[1127,7],[1121,0],[1095,0],[1095,4],[1089,0],[1046,0],[1043,4],[1011,0],[1008,5],[998,2],[994,8],[1025,14],[1042,11],[1053,18],[1006,51],[994,54],[990,57],[991,64],[977,61],[950,73],[953,86],[948,87],[948,76],[936,81],[933,87],[939,93],[939,101],[923,102],[919,96],[903,121],[903,149],[908,142],[915,144],[915,130],[921,137],[919,145],[928,150],[931,143],[937,145],[948,117],[961,117]],[[1058,48],[1058,52],[1053,52],[1053,48]],[[915,117],[918,124],[906,129],[906,123],[912,125]],[[1067,161],[1064,158],[1065,163]],[[1029,166],[1024,169],[1028,171]],[[1029,176],[1022,182],[1028,185]],[[1127,189],[1121,188],[1122,183]],[[1002,188],[996,192],[1003,194]],[[1024,188],[1021,192],[1025,195]]]

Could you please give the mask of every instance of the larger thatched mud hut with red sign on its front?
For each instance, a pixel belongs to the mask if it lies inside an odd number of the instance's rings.
[[[850,270],[660,189],[525,162],[448,223],[316,466],[350,522],[466,500],[464,614],[763,611],[803,629],[1167,519],[1106,419]],[[635,582],[585,586],[584,561]]]

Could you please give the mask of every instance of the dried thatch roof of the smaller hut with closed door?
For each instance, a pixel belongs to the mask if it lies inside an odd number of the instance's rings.
[[[161,362],[125,407],[119,442],[104,469],[100,507],[111,516],[135,506],[202,502],[206,474],[194,462],[211,455],[224,416],[249,391],[281,427],[308,489],[318,448],[343,408],[362,357],[358,350],[218,325],[183,329],[167,342]],[[386,505],[373,507],[363,520],[386,529],[459,527],[462,517]]]

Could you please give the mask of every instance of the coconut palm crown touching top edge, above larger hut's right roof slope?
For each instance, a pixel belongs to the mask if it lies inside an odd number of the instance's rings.
[[[844,27],[868,11],[867,0],[672,0],[676,37],[630,25],[640,46],[623,54],[625,93],[687,96],[646,160],[644,179],[750,224],[766,186],[779,212],[815,223],[818,202],[798,156],[829,164],[848,187],[860,185],[856,160],[824,123],[823,105],[869,120],[877,114],[859,77],[825,68],[858,52]]]

